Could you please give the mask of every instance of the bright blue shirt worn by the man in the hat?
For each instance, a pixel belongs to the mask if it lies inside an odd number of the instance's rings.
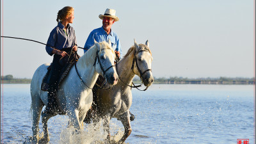
[[[103,27],[94,29],[86,40],[86,43],[84,45],[84,53],[94,45],[94,40],[96,40],[97,42],[102,42],[102,41],[108,42],[108,40],[110,40],[111,47],[113,48],[113,50],[119,51],[120,57],[122,58],[122,49],[121,49],[120,40],[118,38],[118,35],[116,35],[116,33],[114,33],[112,30],[108,35],[108,33],[103,29]]]

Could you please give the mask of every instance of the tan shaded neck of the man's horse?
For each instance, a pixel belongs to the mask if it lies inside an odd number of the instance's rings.
[[[132,79],[135,76],[134,72],[132,72],[132,60],[133,56],[130,54],[127,57],[124,57],[122,60],[118,62],[118,77],[122,79],[122,81],[126,84],[131,84]],[[119,82],[121,83],[121,82]],[[122,84],[124,84],[122,83]],[[125,84],[125,85],[126,85]]]

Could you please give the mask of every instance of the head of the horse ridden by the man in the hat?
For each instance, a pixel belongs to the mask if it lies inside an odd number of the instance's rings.
[[[152,75],[151,63],[152,63],[152,53],[149,49],[148,40],[146,44],[137,44],[134,40],[134,59],[133,59],[133,71],[137,76],[140,76],[143,84],[145,86],[150,86],[154,77]]]

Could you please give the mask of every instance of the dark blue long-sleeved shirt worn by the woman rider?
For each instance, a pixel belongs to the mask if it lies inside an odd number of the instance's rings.
[[[65,26],[61,24],[61,22],[58,22],[58,26],[52,29],[47,41],[47,46],[45,47],[47,53],[50,56],[53,55],[53,49],[50,46],[61,50],[63,48],[73,47],[74,45],[77,45],[74,28],[72,28],[72,26],[68,24],[66,31],[67,34],[65,33],[64,28]]]

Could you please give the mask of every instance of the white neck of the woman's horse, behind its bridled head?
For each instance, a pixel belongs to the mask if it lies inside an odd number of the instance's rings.
[[[90,54],[87,54],[85,56],[82,56],[77,61],[77,71],[81,78],[83,79],[84,83],[86,84],[85,87],[92,88],[93,85],[96,83],[97,78],[99,74],[96,72],[93,64],[94,64],[95,58],[93,56],[90,56]],[[83,83],[83,82],[81,82]],[[83,84],[84,85],[84,84]]]

